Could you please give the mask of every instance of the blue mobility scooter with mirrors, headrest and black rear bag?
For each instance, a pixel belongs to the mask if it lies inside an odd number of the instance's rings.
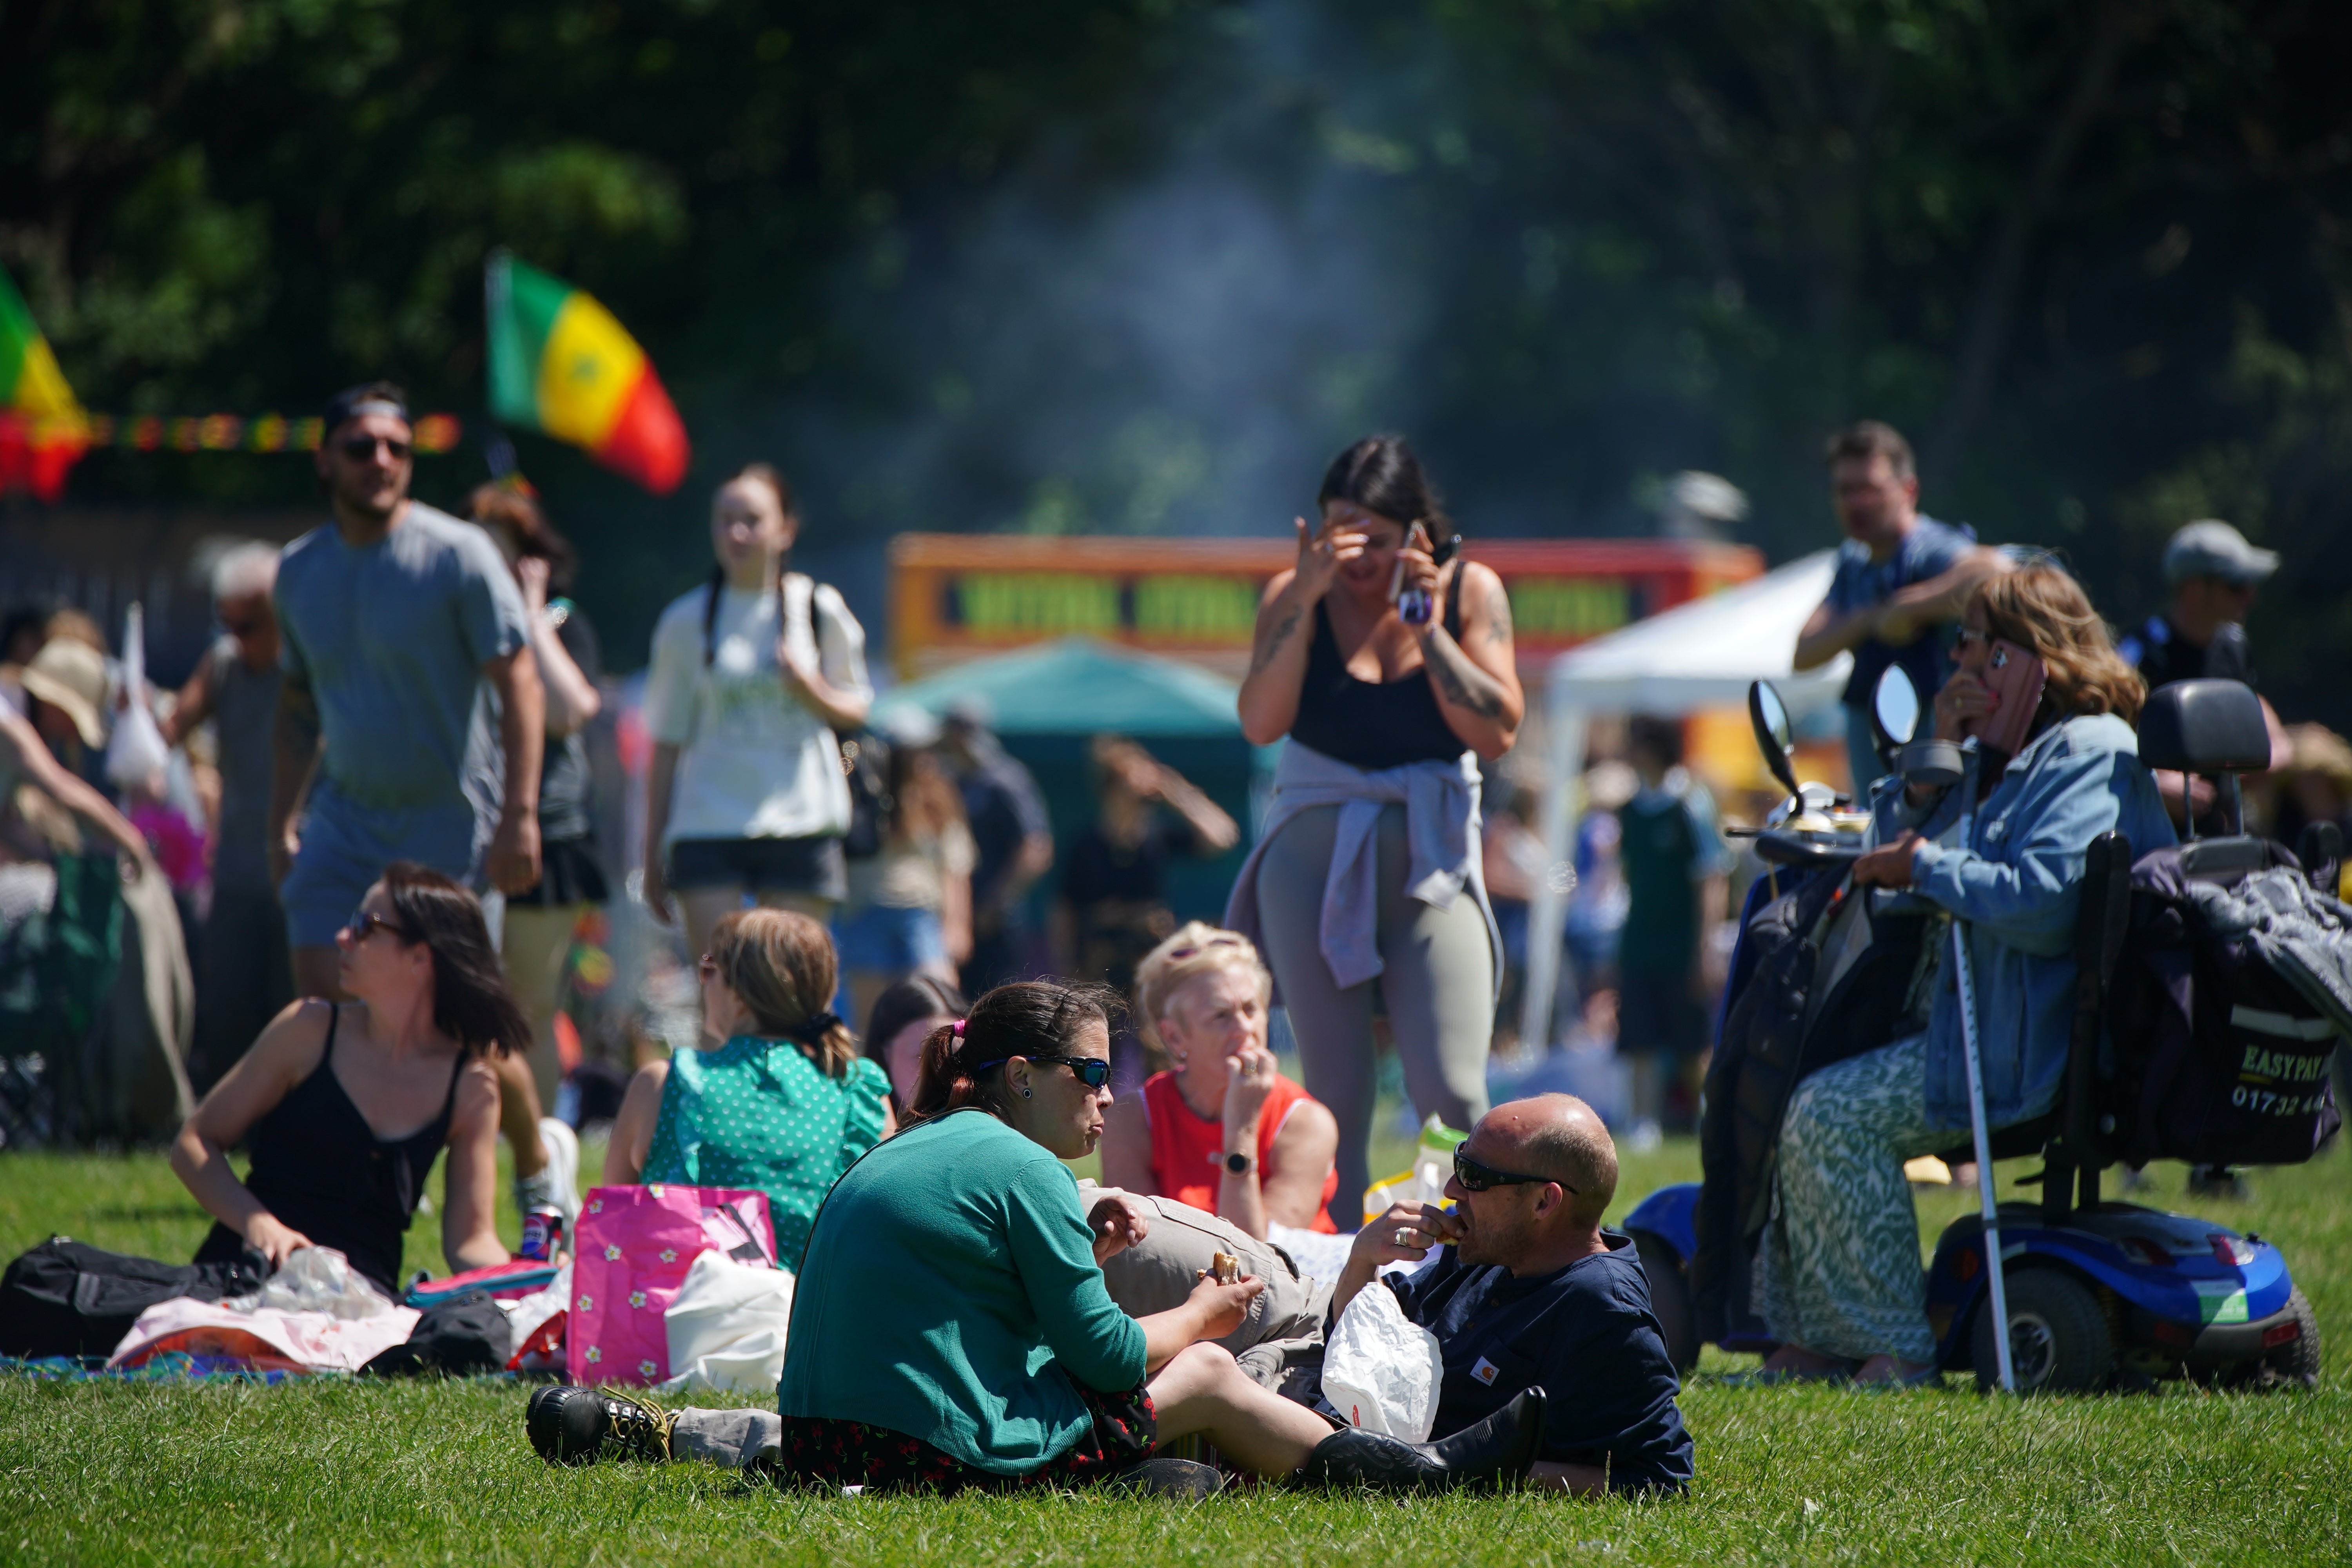
[[[1912,738],[1919,696],[1900,670],[1882,679],[1875,710],[1882,750],[1898,776],[1931,785],[1962,780],[1969,757],[1959,745]],[[1900,985],[1870,985],[1867,976],[1875,966],[1882,976],[1912,973],[1922,943],[1950,940],[1936,936],[1936,926],[1950,926],[1950,919],[1933,914],[1926,900],[1851,884],[1851,863],[1867,846],[1867,827],[1856,813],[1837,811],[1844,802],[1823,785],[1797,785],[1788,762],[1785,708],[1764,682],[1750,689],[1750,717],[1766,762],[1790,788],[1790,802],[1757,835],[1757,853],[1771,872],[1750,896],[1740,947],[1752,936],[1783,933],[1783,952],[1778,964],[1773,954],[1757,959],[1743,952],[1733,959],[1733,985],[1778,987],[1764,1006],[1778,999],[1778,1016],[1790,1027],[1740,1034],[1729,1025],[1752,1023],[1757,1001],[1729,1001],[1708,1070],[1700,1126],[1705,1180],[1649,1194],[1623,1222],[1639,1246],[1670,1352],[1684,1368],[1698,1361],[1703,1340],[1736,1352],[1771,1347],[1748,1305],[1748,1267],[1769,1206],[1771,1140],[1788,1088],[1830,1060],[1893,1039],[1891,1004],[1875,997],[1900,992]],[[1973,743],[1966,745],[1973,750]],[[2180,682],[2150,696],[2140,717],[2140,762],[2216,778],[2232,827],[2223,837],[2192,837],[2178,851],[2180,877],[2227,886],[2277,865],[2300,870],[2296,858],[2244,835],[2237,773],[2258,771],[2267,759],[2263,710],[2244,684]],[[2324,837],[2307,837],[2300,849],[2305,863],[2340,853]],[[2331,863],[2324,877],[2333,889]],[[2133,891],[2131,846],[2117,832],[2100,835],[2089,849],[2082,886],[2072,1046],[2058,1103],[2044,1117],[1985,1131],[1976,1030],[1973,1018],[1966,1020],[1976,1138],[1947,1159],[1978,1159],[1983,1213],[1955,1220],[1938,1239],[1926,1272],[1926,1312],[1938,1340],[1938,1368],[1973,1371],[1978,1387],[2089,1392],[2147,1387],[2161,1378],[2251,1387],[2317,1382],[2319,1324],[2277,1246],[2211,1220],[2100,1194],[2100,1173],[2119,1161],[2126,1124],[2145,1114],[2133,1086],[2119,1084],[2122,1053],[2110,1025],[2117,1025],[2124,985],[2140,983],[2119,973],[2119,959],[2136,914],[2145,924],[2147,907],[2150,898]],[[1797,936],[1811,940],[1795,952],[1797,961],[1788,961],[1790,910]],[[2333,940],[2345,940],[2340,926]],[[1962,1001],[1973,1009],[1962,947],[1952,950],[1952,961]],[[2310,1143],[2336,1124],[2326,1058],[2345,1018],[2328,1016],[2324,1006],[2291,1011],[2296,1016],[2237,1009],[2253,1013],[2256,1030],[2277,1037],[2258,1044],[2300,1053],[2291,1063],[2270,1053],[2258,1065],[2274,1070],[2277,1088],[2300,1091],[2298,1110],[2310,1117],[2303,1126],[2312,1128],[2312,1138],[2300,1154],[2284,1159],[2307,1159]],[[1780,1060],[1740,1060],[1757,1039],[1764,1048],[1752,1056]],[[2246,1060],[2256,1063],[2256,1051]],[[2241,1084],[2227,1093],[2265,1091]],[[2020,1185],[2039,1182],[2039,1201],[1994,1204],[1992,1161],[2032,1154],[2042,1154],[2044,1166]],[[1985,1246],[1987,1234],[1994,1248]],[[2006,1342],[1994,1335],[2004,1316]]]

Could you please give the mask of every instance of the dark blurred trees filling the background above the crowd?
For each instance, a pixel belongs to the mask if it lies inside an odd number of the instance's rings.
[[[2286,550],[2265,686],[2347,726],[2347,66],[2326,0],[5,0],[0,263],[118,411],[395,374],[470,414],[492,244],[595,292],[699,454],[654,503],[524,444],[623,668],[748,456],[816,543],[1270,531],[1402,423],[1475,531],[1635,531],[1710,468],[1778,557],[1872,414],[1931,510],[2070,550],[2126,623],[2178,522]],[[1331,266],[1279,421],[1087,315],[1127,256],[1087,223],[1204,165]],[[1141,209],[1200,284],[1141,336],[1265,270],[1228,216]],[[75,494],[308,477],[101,454]]]

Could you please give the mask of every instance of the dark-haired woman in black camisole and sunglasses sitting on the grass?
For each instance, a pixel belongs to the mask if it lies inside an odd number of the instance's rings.
[[[172,1171],[216,1220],[198,1262],[332,1246],[397,1295],[402,1237],[447,1147],[442,1253],[506,1262],[492,1222],[499,1079],[532,1025],[499,973],[482,905],[395,860],[336,936],[350,1001],[282,1011],[172,1145]],[[228,1168],[245,1143],[252,1171]]]

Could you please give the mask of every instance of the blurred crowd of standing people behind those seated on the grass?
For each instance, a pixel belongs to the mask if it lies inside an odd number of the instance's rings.
[[[863,1023],[917,980],[976,997],[1068,973],[1129,992],[1178,924],[1171,867],[1242,844],[1225,806],[1120,736],[1089,752],[1091,820],[1056,839],[1037,780],[990,733],[985,701],[936,719],[901,708],[868,731],[866,630],[837,590],[790,571],[797,503],[760,463],[715,489],[710,578],[670,604],[652,639],[644,842],[600,844],[583,736],[612,682],[588,616],[564,597],[576,552],[520,477],[480,487],[461,515],[412,498],[395,388],[346,393],[329,423],[318,463],[334,522],[285,550],[230,543],[207,557],[219,639],[176,691],[148,693],[169,776],[108,776],[127,696],[103,628],[71,607],[16,609],[0,628],[0,919],[73,917],[71,884],[87,865],[61,851],[118,851],[111,875],[125,889],[153,870],[155,898],[132,898],[134,940],[186,954],[193,1020],[162,994],[118,1011],[146,1011],[160,1039],[186,1034],[176,1046],[193,1095],[296,994],[336,990],[334,933],[393,860],[485,898],[532,1020],[529,1048],[501,1067],[513,1079],[501,1128],[534,1182],[546,1157],[569,1157],[541,1150],[562,1133],[539,1131],[583,1056],[579,1023],[562,1016],[564,969],[581,917],[612,903],[623,858],[642,865],[654,919],[675,900],[687,959],[746,900],[823,922],[842,1013]],[[1900,433],[1867,421],[1842,430],[1828,468],[1844,543],[1795,665],[1853,656],[1851,778],[1877,766],[1865,712],[1877,672],[1900,665],[1922,691],[1938,689],[1969,592],[2006,557],[1922,510]],[[1566,1039],[1616,1046],[1623,1065],[1604,1103],[1632,1147],[1689,1128],[1724,922],[1755,870],[1726,846],[1724,820],[1752,820],[1764,799],[1740,778],[1710,785],[1684,757],[1679,719],[1597,729],[1566,846],[1559,1018],[1550,1039],[1519,1041],[1529,910],[1555,872],[1531,825],[1538,780],[1491,766],[1522,708],[1508,597],[1482,567],[1439,559],[1454,529],[1402,442],[1341,454],[1319,498],[1317,527],[1298,524],[1298,567],[1268,585],[1242,689],[1249,736],[1291,745],[1228,924],[1258,936],[1289,1001],[1268,1006],[1272,1039],[1301,1053],[1303,1079],[1338,1121],[1341,1192],[1371,1175],[1367,1037],[1395,1051],[1416,1112],[1454,1126],[1484,1110],[1489,1056]],[[1399,559],[1428,576],[1432,611],[1418,623],[1399,611]],[[2244,623],[2279,557],[2199,520],[2161,564],[2171,597],[2117,639],[2124,661],[2150,686],[2206,672],[2256,682]],[[2352,825],[2352,745],[2270,717],[2277,762],[2249,785],[2253,820],[2288,842],[2305,823]],[[1465,750],[1489,764],[1468,788],[1456,778]],[[1305,778],[1324,762],[1338,766]],[[1722,785],[1731,795],[1719,802]],[[2176,820],[2209,820],[2201,783],[2159,788]],[[1461,898],[1421,898],[1423,835],[1458,832],[1470,811],[1482,818],[1479,877]],[[45,985],[73,985],[64,954],[45,964]],[[82,969],[85,983],[99,971]],[[87,1025],[103,997],[82,1001]],[[597,1100],[609,1110],[649,1041],[595,1044],[612,1060],[614,1088]],[[1164,1074],[1157,1018],[1117,1023],[1112,1058],[1129,1091]],[[82,1117],[85,1131],[103,1121]],[[26,1135],[31,1124],[16,1128]]]

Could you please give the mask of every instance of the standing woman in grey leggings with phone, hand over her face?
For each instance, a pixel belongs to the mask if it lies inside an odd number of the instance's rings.
[[[1289,738],[1265,832],[1225,924],[1251,936],[1291,1016],[1308,1093],[1338,1119],[1343,1232],[1371,1173],[1371,985],[1414,1107],[1486,1112],[1498,943],[1479,877],[1479,762],[1524,715],[1510,599],[1454,559],[1454,524],[1402,437],[1324,473],[1322,527],[1258,607],[1242,731]]]

